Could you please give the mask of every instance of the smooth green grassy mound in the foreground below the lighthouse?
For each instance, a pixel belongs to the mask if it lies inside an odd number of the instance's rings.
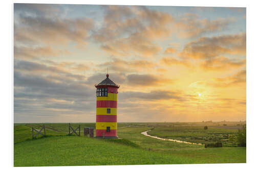
[[[193,163],[193,161],[88,137],[53,136],[14,145],[14,166],[178,163]]]

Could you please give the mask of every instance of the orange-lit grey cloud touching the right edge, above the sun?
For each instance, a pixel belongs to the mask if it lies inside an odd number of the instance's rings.
[[[202,37],[187,43],[179,56],[182,58],[210,59],[224,54],[246,55],[246,34]]]

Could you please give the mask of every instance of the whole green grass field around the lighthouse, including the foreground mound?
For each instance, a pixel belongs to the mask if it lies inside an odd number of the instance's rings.
[[[140,134],[154,128],[148,134],[203,142],[203,138],[208,140],[212,136],[237,133],[237,129],[232,128],[234,126],[212,126],[203,130],[203,126],[194,124],[120,123],[120,139],[95,139],[84,137],[82,132],[84,127],[95,127],[95,124],[71,125],[81,125],[80,137],[67,135],[68,124],[46,124],[47,136],[32,140],[31,127],[40,129],[42,124],[15,124],[14,166],[246,162],[246,148],[231,147],[234,144],[225,143],[222,148],[204,148],[204,145],[159,140]],[[222,142],[223,139],[220,137]]]

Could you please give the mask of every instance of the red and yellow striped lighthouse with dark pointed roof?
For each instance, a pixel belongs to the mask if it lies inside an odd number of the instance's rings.
[[[118,138],[117,136],[117,94],[119,85],[106,74],[96,90],[96,138]]]

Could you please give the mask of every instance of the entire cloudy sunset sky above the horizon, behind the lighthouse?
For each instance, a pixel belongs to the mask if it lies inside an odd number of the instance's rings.
[[[14,4],[14,123],[246,120],[246,9]]]

